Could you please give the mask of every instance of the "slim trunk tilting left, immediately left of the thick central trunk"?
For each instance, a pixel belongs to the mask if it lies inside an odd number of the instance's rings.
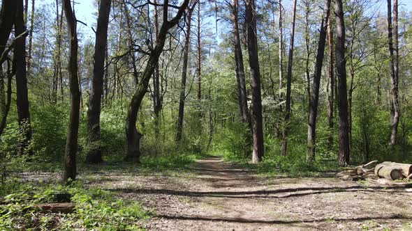
[[[246,79],[244,77],[244,65],[242,45],[240,44],[239,33],[239,0],[232,0],[232,19],[233,19],[233,45],[235,47],[235,67],[237,77],[237,93],[239,99],[239,109],[242,122],[250,123],[249,110],[247,108]]]

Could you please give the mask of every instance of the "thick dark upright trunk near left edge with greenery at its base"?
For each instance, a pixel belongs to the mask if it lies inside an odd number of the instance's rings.
[[[17,10],[15,13],[15,37],[26,33],[24,26],[24,7],[23,1],[17,1]],[[28,150],[31,140],[31,123],[29,112],[29,94],[27,90],[26,77],[26,36],[20,36],[15,42],[15,61],[16,61],[16,105],[17,120],[19,122],[22,143],[20,144],[20,154]]]

